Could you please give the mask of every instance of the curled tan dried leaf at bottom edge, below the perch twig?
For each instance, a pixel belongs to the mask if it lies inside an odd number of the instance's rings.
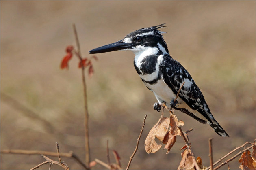
[[[191,150],[185,149],[184,152],[181,153],[182,159],[180,161],[180,165],[178,170],[194,170],[195,169],[195,157],[191,156]]]

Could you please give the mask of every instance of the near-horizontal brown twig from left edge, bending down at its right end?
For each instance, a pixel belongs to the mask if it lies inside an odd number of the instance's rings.
[[[58,153],[56,152],[48,152],[48,151],[38,151],[38,150],[20,150],[20,149],[4,149],[1,150],[1,153],[9,153],[9,154],[25,154],[25,155],[48,155],[48,156],[56,156],[58,157]],[[73,151],[70,151],[69,153],[60,153],[60,156],[62,157],[69,157],[75,159],[82,167],[85,169],[87,166],[73,153]]]

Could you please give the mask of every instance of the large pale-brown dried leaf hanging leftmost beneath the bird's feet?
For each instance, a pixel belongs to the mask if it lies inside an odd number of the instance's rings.
[[[161,117],[159,121],[152,127],[145,140],[145,150],[147,153],[156,153],[162,145],[157,144],[155,138],[163,142],[165,134],[169,129],[170,119],[168,117]]]

